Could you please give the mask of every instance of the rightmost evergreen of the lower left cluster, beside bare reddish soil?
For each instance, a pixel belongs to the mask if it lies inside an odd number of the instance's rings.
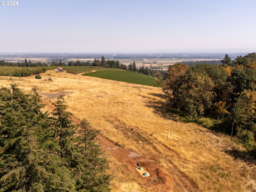
[[[83,119],[80,123],[80,154],[79,163],[76,163],[76,189],[79,191],[106,192],[112,175],[106,174],[108,161],[102,156],[99,144],[95,143],[98,131],[93,130],[90,122]],[[76,159],[77,160],[77,159]],[[81,174],[82,173],[82,174]]]

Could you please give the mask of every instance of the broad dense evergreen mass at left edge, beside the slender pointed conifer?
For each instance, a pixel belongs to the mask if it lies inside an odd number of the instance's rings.
[[[23,94],[12,84],[1,89],[0,102],[0,191],[72,191],[55,138],[46,137],[54,131],[38,94]]]

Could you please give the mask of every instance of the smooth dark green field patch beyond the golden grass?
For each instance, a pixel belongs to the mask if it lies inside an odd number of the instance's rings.
[[[135,83],[148,86],[156,86],[156,79],[149,75],[134,73],[125,70],[104,70],[83,74],[84,76],[98,77],[127,83]]]

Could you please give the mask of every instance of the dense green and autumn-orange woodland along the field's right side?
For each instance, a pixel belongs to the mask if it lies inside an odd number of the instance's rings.
[[[216,120],[215,126],[245,146],[256,148],[256,53],[237,56],[228,54],[219,65],[177,63],[169,66],[165,80],[158,84],[170,104],[187,120]]]

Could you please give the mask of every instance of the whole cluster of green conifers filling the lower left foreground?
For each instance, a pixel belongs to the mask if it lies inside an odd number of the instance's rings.
[[[0,191],[110,191],[98,131],[86,119],[74,125],[63,96],[52,113],[42,112],[33,92],[13,83],[0,89]]]

